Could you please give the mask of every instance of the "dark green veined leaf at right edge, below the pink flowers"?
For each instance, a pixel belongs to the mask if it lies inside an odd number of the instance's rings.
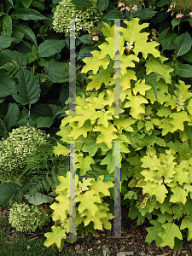
[[[192,39],[188,32],[180,35],[175,41],[175,51],[177,56],[186,54],[192,46]]]

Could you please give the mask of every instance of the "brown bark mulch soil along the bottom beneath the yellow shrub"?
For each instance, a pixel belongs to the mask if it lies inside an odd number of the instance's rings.
[[[1,209],[1,208],[0,208]],[[9,215],[8,208],[2,209],[3,216]],[[142,225],[137,226],[137,222],[127,217],[128,211],[125,206],[121,207],[121,236],[126,238],[108,238],[107,236],[113,236],[113,220],[111,220],[111,230],[98,230],[99,237],[84,236],[79,238],[78,241],[71,244],[65,241],[65,249],[67,252],[74,253],[74,255],[81,255],[83,252],[86,256],[102,256],[103,246],[107,247],[109,254],[106,256],[190,256],[192,255],[192,244],[186,239],[183,241],[183,249],[180,251],[173,251],[170,247],[157,247],[155,242],[148,244],[145,242],[147,236],[146,228],[151,226],[148,221],[145,221]],[[1,218],[1,216],[0,216]],[[14,228],[11,228],[14,229]],[[15,230],[15,229],[14,229]],[[10,234],[13,233],[9,230]],[[32,236],[38,236],[38,234],[26,234],[27,238],[32,239]],[[42,234],[39,234],[42,236]],[[122,253],[121,253],[122,252]],[[123,253],[127,252],[127,253]],[[119,253],[119,254],[118,254]],[[105,254],[104,254],[105,255]]]

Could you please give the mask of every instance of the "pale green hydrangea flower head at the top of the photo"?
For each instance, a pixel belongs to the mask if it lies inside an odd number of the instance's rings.
[[[75,32],[78,38],[80,30],[86,31],[95,26],[96,21],[102,19],[102,10],[96,7],[97,0],[90,0],[90,2],[92,3],[90,7],[77,7],[70,0],[61,1],[55,9],[53,29],[56,32],[64,32],[68,37],[69,19],[82,19],[76,20]]]

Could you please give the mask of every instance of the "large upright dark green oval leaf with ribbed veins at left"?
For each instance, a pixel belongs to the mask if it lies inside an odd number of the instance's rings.
[[[41,90],[37,77],[29,70],[21,67],[16,78],[19,83],[15,84],[12,91],[15,101],[22,105],[38,102]]]

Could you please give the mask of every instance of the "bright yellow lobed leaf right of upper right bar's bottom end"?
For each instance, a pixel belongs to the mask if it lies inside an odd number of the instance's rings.
[[[125,108],[130,108],[131,107],[131,111],[130,114],[132,116],[132,118],[134,119],[141,119],[139,117],[140,113],[145,113],[145,105],[144,103],[148,103],[148,100],[146,100],[143,96],[141,95],[137,95],[137,96],[127,96],[127,99],[129,100],[129,102],[125,103]]]

